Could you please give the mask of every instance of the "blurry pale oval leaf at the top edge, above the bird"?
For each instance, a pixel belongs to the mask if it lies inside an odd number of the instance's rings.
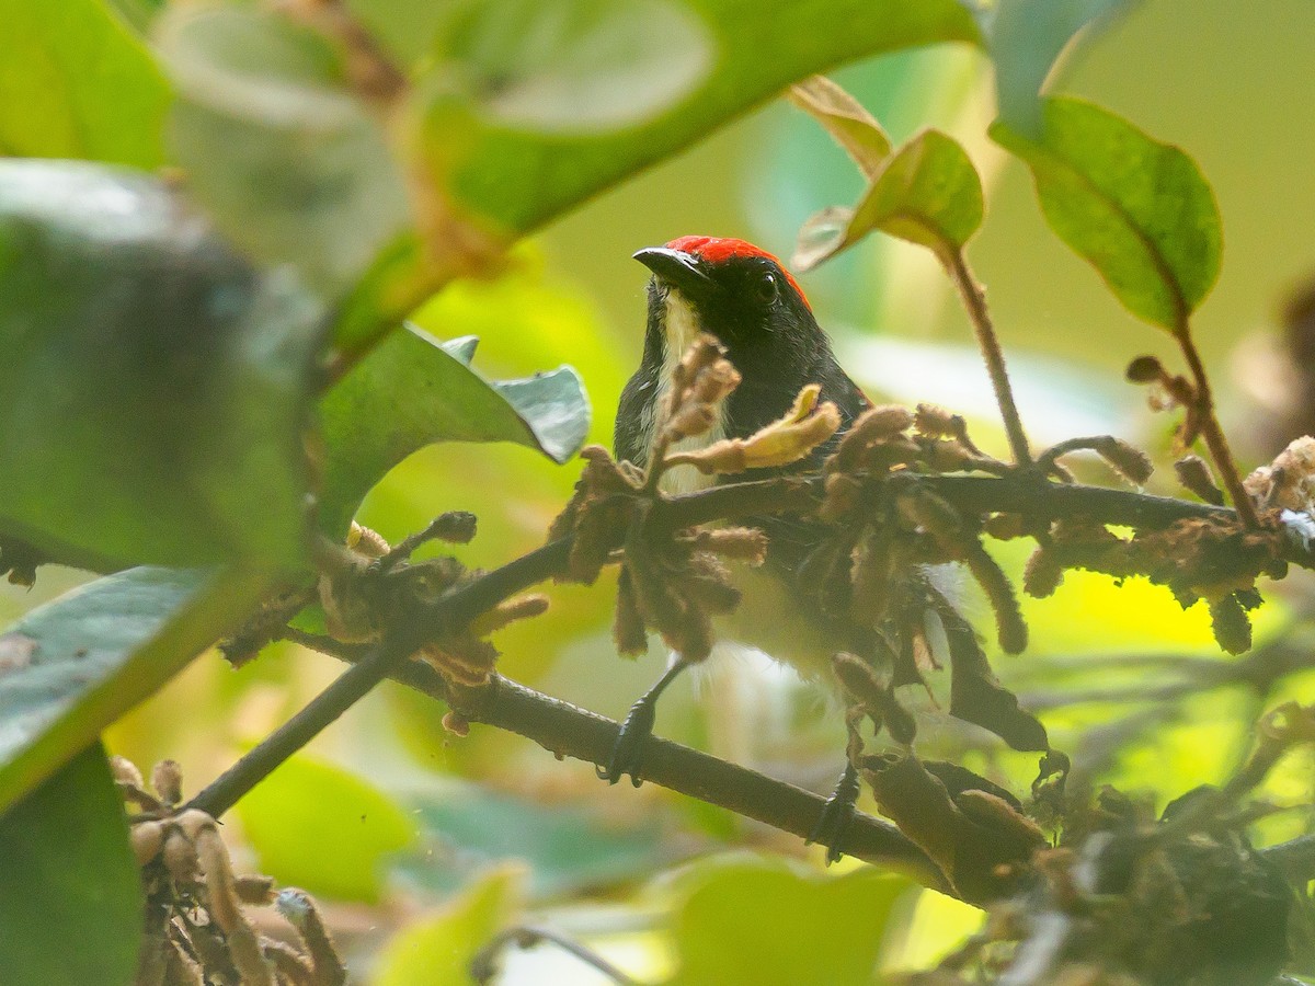
[[[443,47],[481,116],[547,134],[651,120],[714,60],[702,21],[677,0],[483,0]]]

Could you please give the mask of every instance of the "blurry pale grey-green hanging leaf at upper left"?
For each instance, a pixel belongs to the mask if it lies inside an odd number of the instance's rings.
[[[220,230],[326,296],[354,285],[406,229],[408,202],[343,54],[287,16],[233,7],[176,8],[159,46],[179,91],[170,149]]]

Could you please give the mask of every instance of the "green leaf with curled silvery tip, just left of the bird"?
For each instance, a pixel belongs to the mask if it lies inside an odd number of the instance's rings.
[[[556,463],[580,451],[589,400],[571,367],[490,383],[467,365],[471,355],[469,339],[442,343],[406,326],[325,396],[321,530],[342,535],[384,473],[434,442],[515,442]]]

